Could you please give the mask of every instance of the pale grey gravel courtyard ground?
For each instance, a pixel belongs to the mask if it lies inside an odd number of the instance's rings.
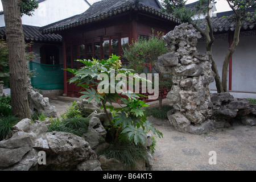
[[[50,100],[50,104],[58,115],[72,105],[63,100]],[[256,126],[236,125],[203,135],[180,133],[172,126],[155,127],[163,138],[156,138],[152,170],[256,171]],[[210,151],[216,152],[216,164],[209,164]]]

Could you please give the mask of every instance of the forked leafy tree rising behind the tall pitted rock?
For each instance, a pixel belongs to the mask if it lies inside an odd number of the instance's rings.
[[[230,46],[228,52],[226,53],[223,66],[222,66],[222,80],[220,75],[218,74],[218,70],[216,64],[214,62],[213,57],[212,60],[212,69],[213,72],[216,73],[215,82],[218,93],[220,92],[228,92],[228,65],[230,57],[233,55],[236,47],[239,43],[239,35],[243,21],[248,21],[250,23],[255,23],[255,11],[253,13],[248,12],[249,7],[253,7],[255,9],[256,2],[254,0],[226,0],[230,6],[230,8],[234,11],[234,15],[229,16],[229,20],[231,22],[236,22],[236,28],[234,30],[233,43]],[[213,27],[212,21],[210,18],[210,3],[214,1],[212,0],[200,0],[195,10],[192,10],[189,7],[185,7],[186,1],[184,0],[163,0],[162,5],[166,9],[167,13],[171,13],[176,18],[179,18],[183,23],[190,23],[193,27],[199,31],[206,40],[206,49],[207,51],[212,52],[212,46],[214,42],[213,36]],[[204,22],[206,23],[206,28],[200,28],[199,23],[202,23],[201,20],[194,20],[196,14],[204,15]],[[224,18],[224,17],[223,17]]]

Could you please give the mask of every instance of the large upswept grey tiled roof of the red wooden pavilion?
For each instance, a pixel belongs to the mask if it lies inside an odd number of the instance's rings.
[[[82,14],[49,24],[48,26],[42,27],[40,30],[43,31],[44,34],[62,31],[71,27],[104,20],[111,16],[131,10],[150,13],[159,16],[160,18],[179,23],[178,19],[174,18],[172,15],[163,13],[160,8],[161,6],[156,0],[102,0],[94,3]]]

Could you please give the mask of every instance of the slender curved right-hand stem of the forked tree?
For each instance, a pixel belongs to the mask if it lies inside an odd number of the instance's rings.
[[[239,35],[241,30],[241,20],[240,18],[237,18],[236,20],[236,29],[234,31],[234,38],[231,47],[229,48],[228,52],[226,53],[226,57],[222,66],[222,87],[224,92],[228,92],[228,67],[229,67],[229,61],[231,59],[231,56],[233,55],[234,51],[237,48],[237,45],[239,43]]]

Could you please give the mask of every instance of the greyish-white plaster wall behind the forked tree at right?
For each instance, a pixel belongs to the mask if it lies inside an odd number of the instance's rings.
[[[222,75],[222,64],[228,51],[228,40],[216,39],[213,45],[213,58],[218,73]],[[205,52],[205,42],[197,44],[199,52]],[[256,35],[240,36],[240,43],[232,57],[232,92],[239,96],[242,92],[252,93],[256,97]],[[210,90],[217,90],[216,84],[210,84]],[[241,95],[242,96],[242,95]]]

